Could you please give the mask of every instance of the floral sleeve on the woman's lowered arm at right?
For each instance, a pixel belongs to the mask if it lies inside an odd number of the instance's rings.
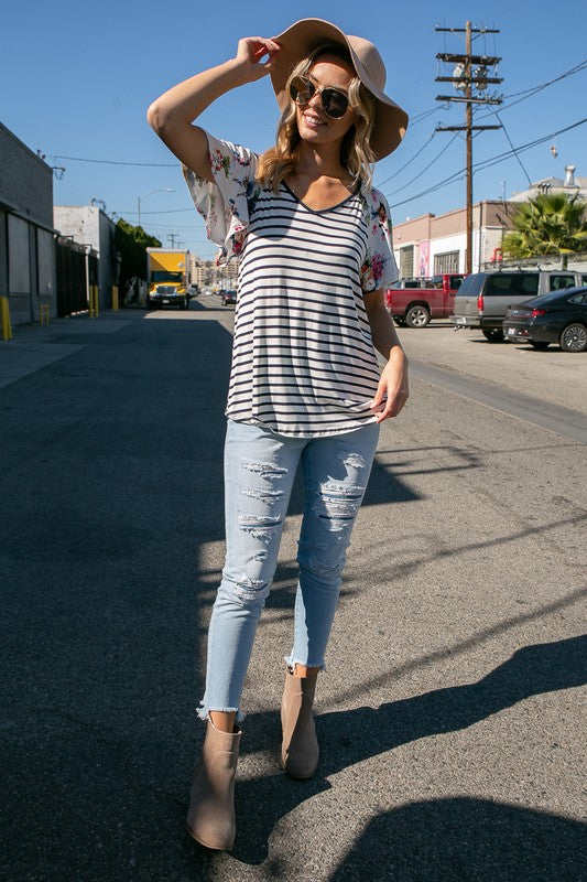
[[[378,190],[372,190],[366,196],[365,220],[368,225],[368,237],[361,266],[361,288],[363,291],[389,288],[399,273],[393,257],[389,207],[385,197]]]

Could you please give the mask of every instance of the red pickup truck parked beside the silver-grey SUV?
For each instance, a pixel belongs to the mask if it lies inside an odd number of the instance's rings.
[[[402,279],[385,292],[388,310],[395,322],[425,327],[431,319],[448,319],[465,272],[445,272],[431,279]]]

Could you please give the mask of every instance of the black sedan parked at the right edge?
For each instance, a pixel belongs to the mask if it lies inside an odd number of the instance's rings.
[[[558,343],[565,352],[587,349],[587,288],[535,297],[508,310],[503,320],[506,340],[531,343],[545,349]]]

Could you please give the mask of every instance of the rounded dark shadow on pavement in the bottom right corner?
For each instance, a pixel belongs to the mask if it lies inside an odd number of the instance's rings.
[[[412,803],[373,818],[329,882],[579,882],[587,828],[485,799]]]

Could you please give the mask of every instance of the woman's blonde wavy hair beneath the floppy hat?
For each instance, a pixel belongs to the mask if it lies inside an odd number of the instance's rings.
[[[307,76],[314,62],[322,55],[334,55],[352,67],[350,54],[344,46],[339,43],[325,43],[293,68],[285,85],[287,95],[292,79],[296,76]],[[350,83],[348,98],[356,121],[345,135],[340,146],[340,163],[351,175],[355,186],[361,182],[371,189],[376,155],[369,139],[376,115],[374,98],[357,76]],[[262,186],[269,186],[276,193],[283,179],[295,173],[301,140],[296,104],[290,99],[278,123],[275,146],[265,150],[259,159],[256,179]]]

